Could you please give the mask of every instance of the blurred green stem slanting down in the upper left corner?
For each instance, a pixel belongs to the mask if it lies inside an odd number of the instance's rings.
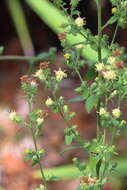
[[[34,55],[32,38],[21,0],[5,0],[25,55]]]

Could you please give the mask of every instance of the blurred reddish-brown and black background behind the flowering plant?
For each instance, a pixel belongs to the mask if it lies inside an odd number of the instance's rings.
[[[42,0],[43,1],[43,0]],[[68,2],[68,1],[66,1]],[[36,0],[38,3],[38,0]],[[97,31],[96,7],[94,1],[81,1],[79,4],[81,16],[86,17],[87,26],[93,34]],[[110,17],[111,5],[108,0],[103,0],[103,21]],[[48,10],[47,10],[48,11]],[[0,46],[4,47],[3,55],[35,56],[46,52],[50,47],[57,48],[57,60],[53,68],[59,68],[62,60],[62,48],[57,35],[49,28],[42,19],[29,7],[24,0],[1,0],[0,1]],[[52,18],[51,18],[52,19]],[[112,37],[114,26],[105,29]],[[116,41],[122,46],[127,46],[126,30],[120,30]],[[1,57],[1,56],[0,56]],[[33,71],[39,66],[34,64]],[[10,110],[15,110],[24,118],[27,118],[28,106],[23,99],[20,89],[20,77],[27,73],[29,65],[26,61],[1,60],[0,59],[0,189],[2,190],[33,190],[40,183],[37,168],[31,169],[30,163],[23,162],[23,152],[26,148],[32,148],[33,143],[29,131],[15,125],[8,119]],[[85,74],[87,68],[82,71]],[[80,84],[77,77],[69,76],[62,85],[61,95],[66,99],[76,96],[73,89]],[[39,90],[37,104],[45,108],[44,102],[49,94],[43,87]],[[96,135],[95,111],[91,114],[85,112],[82,102],[70,103],[72,111],[78,111],[74,123],[79,125],[79,132],[84,139],[94,138]],[[126,108],[123,106],[126,113]],[[53,122],[52,122],[53,121]],[[46,120],[44,136],[38,140],[40,147],[46,149],[42,163],[45,168],[66,166],[72,164],[72,158],[78,157],[81,161],[86,158],[84,152],[70,151],[61,156],[64,149],[63,130],[65,124],[58,115],[50,113]],[[107,184],[106,190],[125,190],[127,177],[126,162],[126,133],[116,141],[120,157],[120,172],[117,172],[114,184]],[[66,170],[68,171],[68,170]],[[68,171],[69,172],[69,171]],[[70,169],[71,173],[71,169]],[[66,174],[65,174],[66,175]],[[70,174],[69,174],[70,175]],[[61,188],[76,189],[79,185],[78,175],[76,179],[50,182],[49,189]]]

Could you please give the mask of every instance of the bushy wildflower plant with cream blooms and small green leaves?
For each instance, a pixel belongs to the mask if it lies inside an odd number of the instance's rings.
[[[101,190],[104,184],[109,182],[109,176],[115,172],[117,163],[113,158],[117,156],[117,149],[114,145],[114,139],[120,135],[122,129],[126,127],[126,121],[123,120],[121,103],[127,99],[127,66],[125,64],[127,55],[123,47],[115,43],[116,34],[119,28],[127,26],[127,0],[110,0],[112,4],[111,18],[102,23],[102,0],[95,0],[97,6],[98,31],[94,36],[87,28],[85,18],[80,16],[77,10],[80,0],[70,0],[70,9],[62,0],[54,0],[55,6],[60,8],[68,18],[68,23],[61,23],[63,33],[58,34],[63,47],[64,64],[70,69],[72,75],[77,75],[80,80],[80,86],[74,89],[79,95],[72,98],[71,101],[83,101],[88,113],[93,108],[96,109],[97,133],[96,138],[91,141],[84,141],[77,131],[77,125],[72,119],[76,116],[67,105],[67,100],[59,96],[58,92],[61,83],[68,77],[67,69],[59,68],[52,71],[50,62],[42,62],[40,68],[31,76],[21,78],[21,86],[29,106],[29,121],[23,121],[16,112],[10,114],[10,119],[17,123],[25,125],[31,130],[35,150],[26,150],[25,160],[32,160],[32,166],[39,164],[42,183],[36,190],[47,188],[46,178],[41,164],[41,158],[45,151],[38,149],[37,137],[41,135],[47,111],[35,108],[35,97],[38,91],[38,82],[45,86],[50,92],[50,96],[45,100],[47,109],[59,114],[66,124],[64,130],[65,144],[69,149],[81,148],[88,155],[88,162],[82,163],[78,158],[73,158],[73,164],[80,170],[80,186],[77,190]],[[104,29],[108,25],[115,24],[116,28],[112,40],[104,34]],[[73,44],[67,43],[68,34],[74,36],[80,34],[84,41]],[[91,66],[89,61],[82,56],[84,46],[89,45],[97,51],[98,60]],[[102,49],[106,49],[107,54],[102,54]],[[91,55],[92,56],[92,55]],[[81,75],[81,69],[89,65],[89,74],[91,68],[93,72],[91,77]],[[91,80],[92,79],[92,80]],[[110,108],[113,105],[113,108]],[[110,141],[108,141],[110,137]],[[72,146],[77,142],[77,146]]]

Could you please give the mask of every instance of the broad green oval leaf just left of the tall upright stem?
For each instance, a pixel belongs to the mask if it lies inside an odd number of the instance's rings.
[[[86,106],[86,111],[90,113],[93,107],[96,107],[98,103],[99,97],[95,95],[89,96],[89,98],[86,100],[85,106]]]

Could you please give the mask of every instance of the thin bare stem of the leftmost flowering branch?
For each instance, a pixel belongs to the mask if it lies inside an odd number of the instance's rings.
[[[32,106],[31,106],[31,102],[29,100],[28,100],[28,105],[29,105],[29,112],[31,112],[32,111]],[[31,122],[31,133],[32,133],[32,139],[33,139],[35,151],[38,152],[37,141],[36,141],[36,136],[35,136],[35,132],[34,132],[32,122]],[[41,160],[40,160],[40,157],[38,155],[37,155],[37,158],[38,158],[38,164],[39,164],[40,171],[41,171],[42,182],[44,183],[45,189],[47,189],[46,178],[45,178],[43,168],[42,168],[42,165],[41,165]]]

